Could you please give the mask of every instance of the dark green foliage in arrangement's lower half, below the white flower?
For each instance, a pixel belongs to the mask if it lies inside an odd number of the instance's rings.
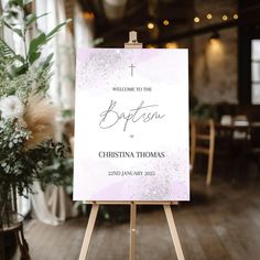
[[[13,131],[14,130],[14,131]],[[34,149],[24,150],[30,132],[21,123],[7,120],[0,126],[0,191],[14,185],[20,195],[31,192],[33,181],[52,181],[51,174],[43,176],[42,169],[52,159],[52,154],[64,158],[62,143],[46,140]]]

